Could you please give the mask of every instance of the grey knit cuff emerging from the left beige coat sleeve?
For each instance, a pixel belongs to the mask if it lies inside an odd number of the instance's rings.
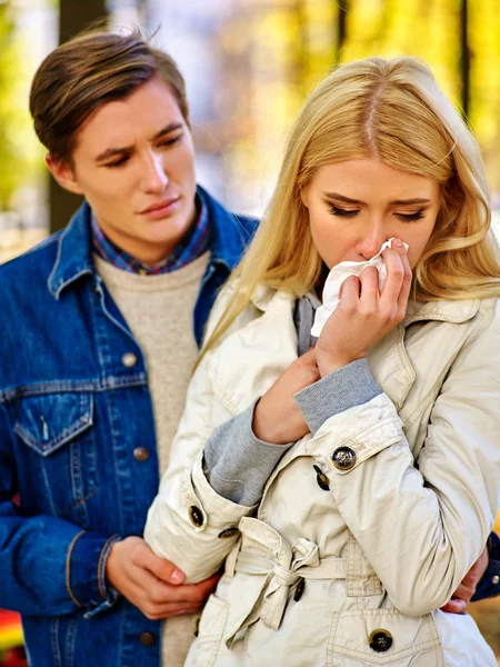
[[[204,448],[210,486],[220,496],[247,507],[260,501],[269,476],[293,445],[272,445],[256,437],[252,421],[257,402],[220,426]]]

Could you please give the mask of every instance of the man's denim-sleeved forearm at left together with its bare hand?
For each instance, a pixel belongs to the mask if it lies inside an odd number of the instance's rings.
[[[10,437],[7,409],[0,405],[2,607],[33,616],[59,616],[82,609],[90,618],[111,607],[120,591],[149,617],[199,608],[216,580],[198,587],[178,586],[183,579],[182,573],[157,558],[141,538],[121,540],[118,535],[82,530],[58,517],[23,516],[22,508],[12,501],[18,488]],[[151,590],[148,571],[156,573],[157,586]],[[147,580],[147,590],[131,599],[130,580],[138,575],[139,579]],[[138,589],[140,584],[136,581],[133,587]]]

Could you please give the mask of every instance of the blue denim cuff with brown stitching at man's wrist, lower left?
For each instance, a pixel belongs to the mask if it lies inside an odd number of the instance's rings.
[[[67,588],[79,607],[88,608],[86,618],[111,607],[119,593],[106,584],[106,561],[118,535],[79,532],[70,544],[67,557]]]

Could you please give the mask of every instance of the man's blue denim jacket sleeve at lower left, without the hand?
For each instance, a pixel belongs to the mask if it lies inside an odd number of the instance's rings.
[[[103,564],[114,536],[52,516],[26,516],[12,501],[17,461],[6,405],[0,405],[0,599],[21,614],[90,615],[114,600]]]

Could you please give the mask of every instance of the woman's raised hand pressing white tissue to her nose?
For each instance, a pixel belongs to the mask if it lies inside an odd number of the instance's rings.
[[[342,283],[340,302],[328,319],[316,346],[321,377],[368,355],[404,318],[411,269],[402,241],[383,251],[387,278],[379,291],[379,272],[367,267]]]

